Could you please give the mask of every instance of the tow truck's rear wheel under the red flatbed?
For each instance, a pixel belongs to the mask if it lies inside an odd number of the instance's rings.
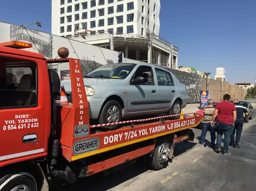
[[[150,157],[150,166],[155,170],[160,170],[167,166],[170,154],[170,143],[166,137],[157,140],[153,156]]]

